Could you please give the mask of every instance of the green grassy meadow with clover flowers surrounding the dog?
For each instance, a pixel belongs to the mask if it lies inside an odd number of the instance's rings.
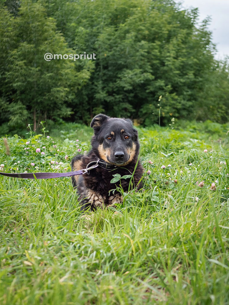
[[[71,127],[1,141],[2,170],[70,170],[91,137]],[[144,190],[116,213],[82,215],[70,178],[0,176],[0,304],[229,304],[229,126],[209,128],[139,128]]]

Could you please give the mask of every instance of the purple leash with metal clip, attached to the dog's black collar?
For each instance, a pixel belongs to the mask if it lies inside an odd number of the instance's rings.
[[[86,166],[86,168],[82,170],[76,170],[76,171],[71,171],[67,173],[20,173],[20,174],[15,174],[15,173],[2,173],[0,172],[0,175],[7,176],[7,177],[14,177],[14,178],[23,178],[23,179],[51,179],[51,178],[60,178],[60,177],[71,177],[71,176],[77,176],[77,175],[83,175],[83,174],[88,174],[90,173],[90,170],[96,168],[96,167],[102,167],[105,169],[110,169],[113,170],[117,166],[114,164],[109,164],[105,162],[104,160],[98,159],[97,161],[92,161],[89,162]]]

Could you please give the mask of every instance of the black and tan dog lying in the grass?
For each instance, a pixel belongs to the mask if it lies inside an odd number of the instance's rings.
[[[111,189],[116,188],[110,181],[113,174],[121,177],[133,174],[133,185],[141,187],[139,183],[143,167],[137,160],[139,155],[139,142],[137,131],[129,119],[119,119],[98,114],[91,122],[94,135],[91,141],[92,149],[87,155],[76,155],[72,161],[72,170],[80,170],[96,165],[89,170],[89,174],[72,177],[74,188],[77,187],[81,210],[97,207],[114,206],[122,202],[122,195],[115,190],[109,195]],[[134,168],[136,166],[136,170]],[[130,178],[121,179],[124,192],[128,191]],[[120,184],[120,181],[116,183]]]

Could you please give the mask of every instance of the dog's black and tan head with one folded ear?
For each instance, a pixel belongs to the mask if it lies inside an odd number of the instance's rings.
[[[124,166],[138,156],[138,134],[131,120],[98,114],[93,118],[91,127],[94,129],[92,146],[100,159]]]

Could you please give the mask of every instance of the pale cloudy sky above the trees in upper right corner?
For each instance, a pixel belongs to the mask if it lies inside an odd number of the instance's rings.
[[[199,9],[199,22],[207,16],[211,17],[209,30],[213,33],[212,41],[216,44],[217,60],[229,56],[229,0],[175,0],[182,3],[184,9],[194,7]]]

